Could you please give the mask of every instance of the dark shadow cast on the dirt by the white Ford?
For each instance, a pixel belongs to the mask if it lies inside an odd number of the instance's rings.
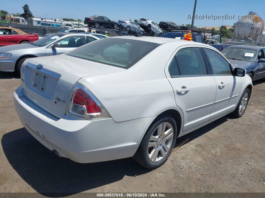
[[[177,143],[187,137],[190,142],[228,119],[232,117],[220,118],[178,138]],[[90,164],[80,164],[67,158],[59,158],[34,139],[25,128],[6,133],[1,143],[9,163],[21,178],[40,194],[50,197],[73,195],[117,182],[125,175],[138,176],[151,171],[135,163],[131,158]]]

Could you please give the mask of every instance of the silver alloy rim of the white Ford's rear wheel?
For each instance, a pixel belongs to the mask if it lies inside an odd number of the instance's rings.
[[[158,162],[163,159],[173,142],[174,131],[169,122],[163,122],[153,131],[147,149],[147,155],[151,162]]]

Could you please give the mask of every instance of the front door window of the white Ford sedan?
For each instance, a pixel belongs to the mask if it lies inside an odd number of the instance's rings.
[[[231,74],[231,68],[229,63],[220,54],[212,49],[204,48],[206,55],[210,61],[213,69],[213,74],[216,75],[229,75]]]

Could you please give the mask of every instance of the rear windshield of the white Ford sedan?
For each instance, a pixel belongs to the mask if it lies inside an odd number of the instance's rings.
[[[83,45],[68,53],[68,56],[89,61],[130,68],[160,44],[139,40],[104,38]]]

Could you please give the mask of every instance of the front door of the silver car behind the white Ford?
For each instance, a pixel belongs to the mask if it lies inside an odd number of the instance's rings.
[[[86,38],[85,36],[67,36],[59,41],[56,41],[57,43],[60,43],[60,47],[58,48],[52,48],[52,44],[46,48],[46,56],[53,56],[53,55],[59,55],[66,52],[69,52],[73,49],[76,49],[77,47],[80,47],[84,44],[86,44]]]

